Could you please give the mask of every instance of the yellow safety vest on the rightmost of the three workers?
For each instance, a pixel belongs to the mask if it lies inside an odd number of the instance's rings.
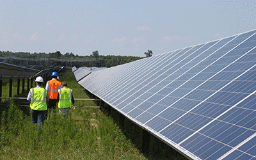
[[[71,108],[72,90],[69,88],[61,88],[58,90],[60,95],[60,101],[58,108]]]

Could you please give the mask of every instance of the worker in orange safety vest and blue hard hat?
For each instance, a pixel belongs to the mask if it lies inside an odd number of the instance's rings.
[[[51,75],[52,79],[51,81],[47,81],[45,90],[48,91],[49,97],[47,97],[47,110],[49,111],[49,116],[47,119],[51,116],[52,113],[56,112],[56,102],[58,97],[58,89],[62,88],[61,83],[57,81],[58,73],[52,72]]]

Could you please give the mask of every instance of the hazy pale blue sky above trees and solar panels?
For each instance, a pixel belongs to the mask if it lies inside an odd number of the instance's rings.
[[[0,51],[145,57],[253,29],[255,0],[0,0]]]

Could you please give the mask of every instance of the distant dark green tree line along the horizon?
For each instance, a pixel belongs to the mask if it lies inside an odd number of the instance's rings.
[[[149,52],[149,53],[148,53]],[[146,57],[152,56],[152,51],[148,50]],[[103,56],[99,51],[93,51],[90,56],[78,56],[72,52],[61,54],[56,52],[11,52],[0,51],[0,61],[19,66],[66,66],[66,67],[113,67],[131,61],[140,60],[140,56]],[[144,57],[145,58],[145,57]]]

